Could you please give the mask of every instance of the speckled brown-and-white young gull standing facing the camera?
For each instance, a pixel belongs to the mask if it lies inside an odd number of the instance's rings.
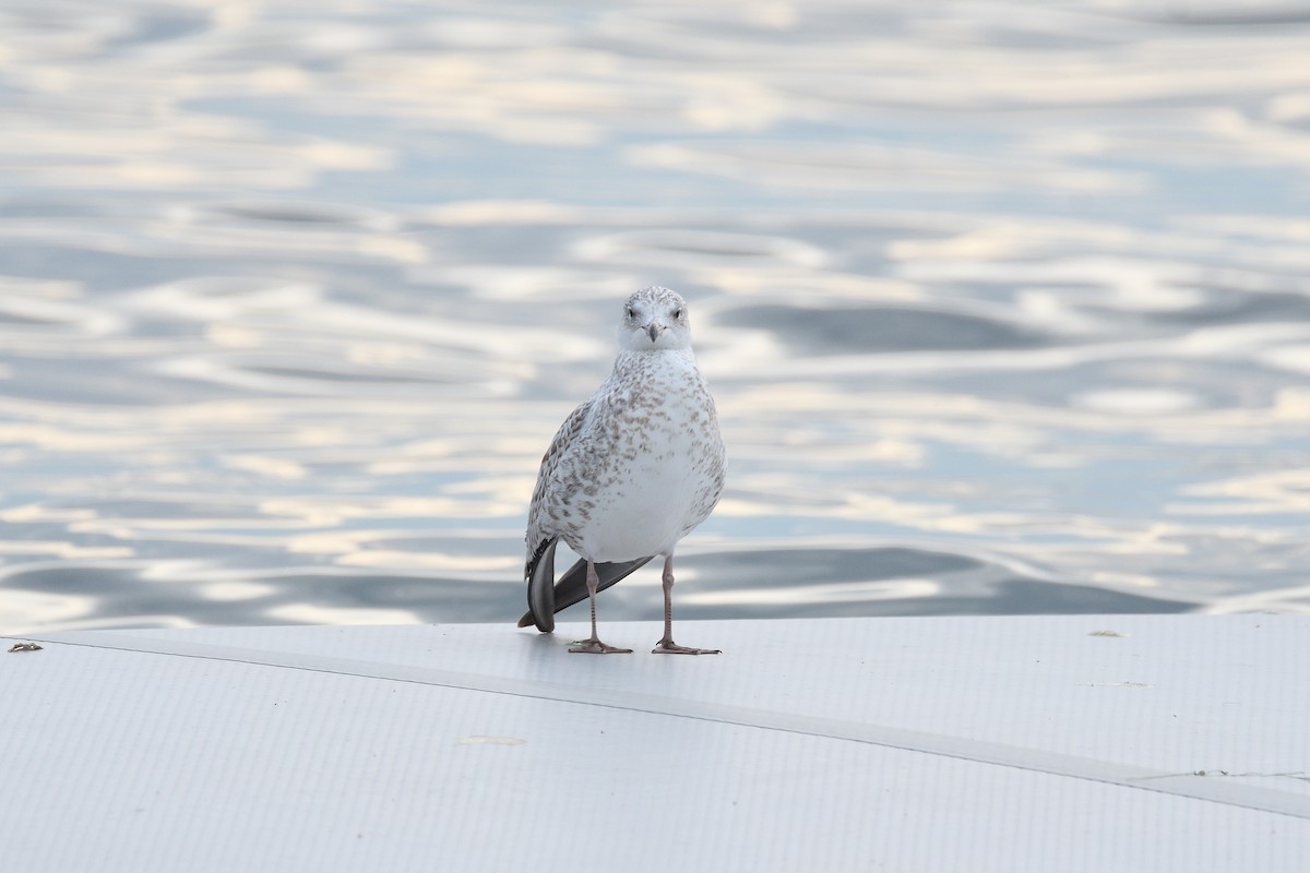
[[[609,378],[572,411],[541,459],[528,509],[528,613],[519,627],[591,601],[591,637],[570,652],[631,652],[596,635],[596,593],[664,559],[658,654],[718,654],[673,641],[673,550],[714,510],[726,458],[709,385],[692,353],[686,304],[658,285],[631,294]],[[555,584],[555,546],[580,556]]]

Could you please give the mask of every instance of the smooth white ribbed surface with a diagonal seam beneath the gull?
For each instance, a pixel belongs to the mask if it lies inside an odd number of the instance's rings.
[[[569,654],[582,626],[24,637],[46,648],[0,653],[0,861],[1307,869],[1305,618],[677,628],[724,654],[618,623],[638,654]]]

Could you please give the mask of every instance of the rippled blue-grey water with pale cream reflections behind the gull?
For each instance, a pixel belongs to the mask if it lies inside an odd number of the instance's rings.
[[[681,616],[1310,611],[1302,5],[0,27],[0,632],[512,622],[655,283],[731,454]]]

